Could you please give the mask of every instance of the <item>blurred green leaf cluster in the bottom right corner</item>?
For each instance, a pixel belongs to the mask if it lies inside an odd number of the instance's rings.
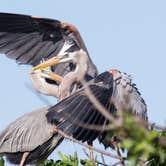
[[[147,130],[143,121],[125,114],[123,127],[114,128],[112,135],[120,138],[121,148],[127,150],[128,165],[166,165],[166,131]]]

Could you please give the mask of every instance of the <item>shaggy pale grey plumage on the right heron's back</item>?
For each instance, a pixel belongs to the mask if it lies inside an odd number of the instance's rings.
[[[147,106],[131,76],[118,70],[109,71],[113,75],[112,102],[117,110],[129,110],[147,120]]]

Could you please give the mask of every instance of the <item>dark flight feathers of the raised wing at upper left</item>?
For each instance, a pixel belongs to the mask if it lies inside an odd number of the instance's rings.
[[[58,20],[0,13],[0,53],[36,65],[55,56],[65,39]]]

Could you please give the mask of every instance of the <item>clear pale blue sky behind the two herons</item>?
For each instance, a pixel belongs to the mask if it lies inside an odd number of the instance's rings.
[[[74,24],[99,72],[117,68],[131,74],[148,105],[149,120],[161,125],[166,120],[165,8],[166,1],[154,0],[0,0],[0,12]],[[0,131],[25,112],[45,105],[26,87],[31,84],[29,71],[30,67],[0,55]],[[64,142],[59,150],[72,153],[77,145]]]

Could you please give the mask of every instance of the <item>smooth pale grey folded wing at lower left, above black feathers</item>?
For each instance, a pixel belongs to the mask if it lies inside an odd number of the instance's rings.
[[[52,126],[46,114],[47,108],[43,108],[12,122],[0,134],[0,153],[33,151],[47,142],[52,137]]]

